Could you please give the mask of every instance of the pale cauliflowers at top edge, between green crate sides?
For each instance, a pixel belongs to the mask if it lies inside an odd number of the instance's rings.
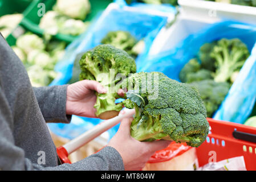
[[[83,22],[90,13],[91,4],[88,0],[58,0],[51,11],[40,19],[39,27],[46,34],[65,34],[77,36],[86,31],[90,22]]]

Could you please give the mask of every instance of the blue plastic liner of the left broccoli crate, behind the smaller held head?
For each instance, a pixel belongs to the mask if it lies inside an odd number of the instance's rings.
[[[55,67],[55,71],[60,73],[60,77],[51,82],[50,86],[67,84],[72,77],[72,68],[76,56],[98,46],[101,39],[109,31],[124,30],[129,31],[137,40],[144,38],[145,48],[137,56],[136,62],[143,60],[143,57],[147,55],[156,35],[165,26],[167,17],[141,13],[134,10],[124,10],[115,3],[112,3],[111,6],[111,8],[108,7],[99,18],[91,23],[91,26],[84,34],[80,35],[78,39],[67,47],[64,59]],[[64,138],[72,139],[100,122],[101,119],[74,116],[68,125],[51,123],[49,127],[53,133]],[[108,130],[109,139],[116,133],[118,128],[119,125],[116,125]]]

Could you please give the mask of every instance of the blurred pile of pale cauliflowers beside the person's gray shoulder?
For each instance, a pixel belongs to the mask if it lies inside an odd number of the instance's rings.
[[[46,41],[31,32],[19,36],[12,46],[25,65],[32,86],[47,86],[54,80],[54,66],[64,55],[65,47],[65,42]]]

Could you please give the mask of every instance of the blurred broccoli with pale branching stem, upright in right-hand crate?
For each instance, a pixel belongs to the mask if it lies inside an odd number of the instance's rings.
[[[216,75],[214,81],[230,81],[230,77],[235,71],[239,71],[245,63],[250,53],[246,44],[239,39],[221,39],[214,46],[210,53],[216,59]]]

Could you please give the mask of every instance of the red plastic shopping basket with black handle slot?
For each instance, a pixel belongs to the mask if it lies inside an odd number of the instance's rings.
[[[197,148],[199,166],[243,156],[246,169],[256,170],[256,127],[208,118],[210,133]],[[216,161],[214,161],[216,159]]]

